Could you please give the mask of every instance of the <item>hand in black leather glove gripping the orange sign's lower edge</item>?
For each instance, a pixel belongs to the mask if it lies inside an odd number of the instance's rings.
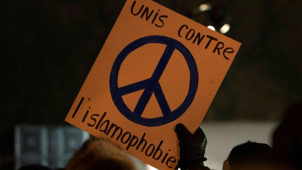
[[[184,169],[203,169],[203,162],[207,160],[205,156],[205,147],[207,138],[205,133],[199,127],[194,134],[181,123],[175,127],[175,132],[179,140],[180,159],[179,168]]]

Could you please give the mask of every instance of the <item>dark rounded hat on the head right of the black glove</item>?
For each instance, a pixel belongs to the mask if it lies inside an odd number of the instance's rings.
[[[265,143],[246,142],[235,146],[228,160],[231,168],[251,163],[266,163],[272,160],[273,149]]]

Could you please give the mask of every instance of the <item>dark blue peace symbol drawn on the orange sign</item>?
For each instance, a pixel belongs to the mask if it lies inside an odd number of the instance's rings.
[[[149,43],[160,43],[167,45],[151,78],[123,87],[118,87],[119,69],[124,59],[132,51]],[[169,59],[175,49],[183,55],[188,64],[188,68],[190,71],[190,82],[188,94],[184,99],[183,103],[177,109],[171,111],[166,101],[165,95],[162,91],[161,85],[158,81],[162,76],[162,73],[166,68],[166,65],[169,62]],[[144,126],[160,126],[163,124],[170,123],[175,119],[179,118],[179,116],[181,116],[191,105],[197,91],[198,70],[192,54],[181,42],[173,38],[153,35],[133,41],[119,53],[111,69],[109,84],[112,100],[117,109],[123,114],[123,116],[125,116],[128,120],[131,120],[136,124],[141,124]],[[144,91],[140,96],[140,99],[138,100],[134,111],[132,112],[123,101],[122,96],[142,89],[144,89]],[[149,99],[151,98],[152,93],[154,93],[155,98],[157,99],[163,116],[156,118],[141,117],[147,103],[149,102]]]

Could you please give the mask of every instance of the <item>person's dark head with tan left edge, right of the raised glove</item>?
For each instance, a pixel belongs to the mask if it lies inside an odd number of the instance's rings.
[[[246,142],[235,146],[223,163],[223,170],[265,169],[272,159],[273,149],[265,143]]]

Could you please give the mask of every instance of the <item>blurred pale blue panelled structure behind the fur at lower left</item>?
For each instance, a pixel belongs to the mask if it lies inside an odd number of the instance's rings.
[[[71,126],[15,127],[15,169],[28,164],[65,167],[89,134]]]

